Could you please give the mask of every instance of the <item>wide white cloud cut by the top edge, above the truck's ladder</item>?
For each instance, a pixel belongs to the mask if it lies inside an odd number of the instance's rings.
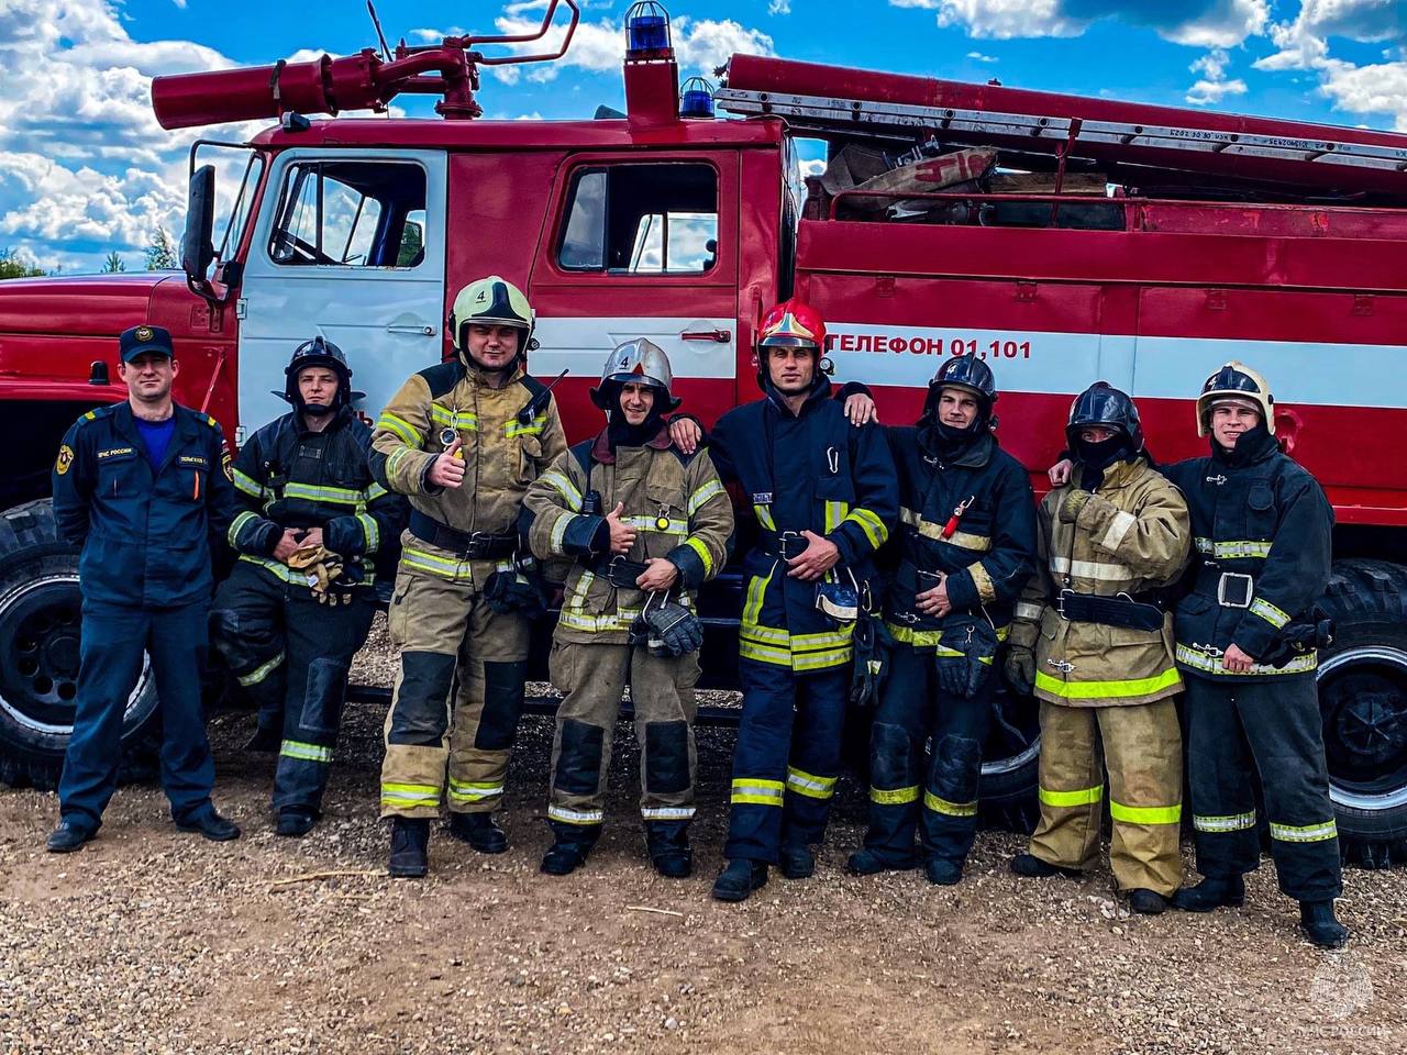
[[[1263,32],[1269,0],[889,0],[893,7],[937,11],[943,28],[975,38],[1079,37],[1100,18],[1145,25],[1196,48],[1230,48]]]

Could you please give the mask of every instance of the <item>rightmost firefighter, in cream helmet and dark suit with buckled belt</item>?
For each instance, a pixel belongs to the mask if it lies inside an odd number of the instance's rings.
[[[1176,658],[1188,677],[1188,751],[1196,886],[1173,904],[1241,904],[1259,865],[1259,772],[1280,889],[1300,903],[1316,945],[1338,948],[1338,830],[1314,670],[1327,637],[1314,602],[1330,577],[1334,512],[1314,478],[1279,449],[1275,397],[1227,363],[1197,398],[1211,453],[1168,470],[1188,497],[1200,561],[1178,603]]]

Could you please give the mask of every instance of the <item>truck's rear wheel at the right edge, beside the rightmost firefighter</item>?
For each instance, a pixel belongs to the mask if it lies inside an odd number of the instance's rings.
[[[1407,568],[1338,561],[1325,608],[1337,629],[1318,693],[1339,844],[1345,861],[1386,868],[1407,861]]]

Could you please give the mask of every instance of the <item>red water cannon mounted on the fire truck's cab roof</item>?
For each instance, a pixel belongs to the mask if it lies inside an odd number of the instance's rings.
[[[525,53],[522,45],[543,41],[553,31],[557,8],[571,13],[554,51]],[[343,110],[381,113],[401,94],[439,96],[435,111],[452,121],[483,115],[474,100],[480,66],[512,66],[560,59],[571,46],[581,21],[577,0],[552,0],[535,32],[499,37],[446,37],[440,44],[393,52],[386,44],[376,8],[367,0],[380,48],[311,62],[276,62],[204,73],[179,73],[152,82],[152,108],[162,128],[197,128],[224,121],[283,120],[286,114],[338,114]],[[663,8],[661,8],[663,10]],[[668,21],[666,20],[666,32]],[[507,46],[507,55],[484,55],[481,46]],[[673,60],[673,52],[670,52]]]

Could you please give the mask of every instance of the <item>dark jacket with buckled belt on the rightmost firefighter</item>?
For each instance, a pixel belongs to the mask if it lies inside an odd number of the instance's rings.
[[[1307,616],[1328,585],[1334,509],[1318,482],[1280,453],[1265,426],[1244,433],[1225,454],[1189,459],[1164,468],[1192,512],[1192,592],[1178,603],[1178,667],[1204,678],[1269,678],[1306,674],[1313,648],[1283,667],[1255,664],[1234,674],[1221,664],[1233,643],[1252,660],[1265,656],[1292,619]],[[1223,574],[1249,577],[1249,605],[1221,603]],[[1244,582],[1228,582],[1223,599],[1241,601]]]

